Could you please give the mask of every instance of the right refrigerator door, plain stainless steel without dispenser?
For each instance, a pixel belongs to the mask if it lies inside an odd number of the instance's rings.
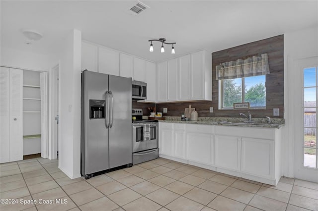
[[[132,163],[132,80],[109,75],[109,168]]]

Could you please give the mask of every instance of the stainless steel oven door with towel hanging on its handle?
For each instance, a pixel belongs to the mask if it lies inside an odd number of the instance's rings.
[[[158,148],[158,123],[150,124],[150,140],[144,141],[144,124],[133,123],[133,153]]]

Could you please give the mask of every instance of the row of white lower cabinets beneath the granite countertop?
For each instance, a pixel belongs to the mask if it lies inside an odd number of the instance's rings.
[[[159,122],[159,156],[277,185],[281,129]]]

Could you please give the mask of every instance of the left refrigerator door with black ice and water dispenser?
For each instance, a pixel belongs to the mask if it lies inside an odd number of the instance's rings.
[[[108,75],[97,72],[82,72],[81,94],[81,173],[87,175],[109,169],[108,129],[104,118],[89,118],[89,100],[106,102],[108,90]]]

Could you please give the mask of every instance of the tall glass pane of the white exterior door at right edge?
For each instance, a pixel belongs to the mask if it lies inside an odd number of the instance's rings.
[[[304,68],[304,163],[317,168],[317,67]]]

